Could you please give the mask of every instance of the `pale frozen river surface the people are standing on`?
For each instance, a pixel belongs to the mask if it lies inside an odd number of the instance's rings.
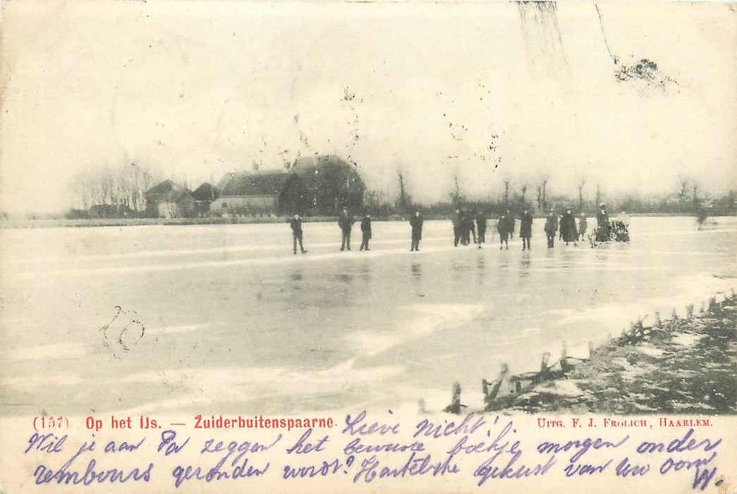
[[[439,409],[455,380],[481,406],[503,362],[585,357],[737,288],[735,218],[633,218],[632,243],[601,248],[548,249],[543,223],[523,252],[426,221],[419,253],[404,222],[374,222],[370,252],[358,225],[339,252],[337,225],[305,223],[304,256],[283,223],[3,229],[2,413]]]

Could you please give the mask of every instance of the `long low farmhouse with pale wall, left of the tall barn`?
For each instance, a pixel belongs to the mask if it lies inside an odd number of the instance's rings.
[[[296,173],[253,171],[226,174],[218,183],[215,214],[287,214],[303,212],[306,190]]]

